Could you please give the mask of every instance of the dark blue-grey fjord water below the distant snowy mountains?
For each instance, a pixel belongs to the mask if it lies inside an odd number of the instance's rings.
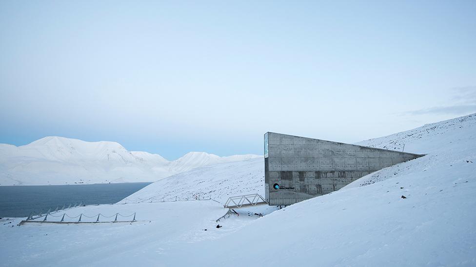
[[[70,203],[111,204],[150,183],[0,186],[0,217],[26,217],[31,212]]]

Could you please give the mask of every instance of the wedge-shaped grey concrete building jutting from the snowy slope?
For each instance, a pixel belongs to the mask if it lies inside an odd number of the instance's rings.
[[[291,205],[422,156],[268,132],[264,135],[265,199],[269,205]]]

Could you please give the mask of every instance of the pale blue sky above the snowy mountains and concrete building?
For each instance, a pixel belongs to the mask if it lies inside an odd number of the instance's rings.
[[[176,159],[476,112],[476,1],[1,1],[0,142]]]

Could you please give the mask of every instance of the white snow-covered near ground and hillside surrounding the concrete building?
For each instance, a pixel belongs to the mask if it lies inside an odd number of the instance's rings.
[[[405,151],[427,155],[328,195],[277,211],[242,210],[218,223],[226,210],[213,200],[147,200],[199,195],[222,202],[262,194],[262,159],[160,180],[128,197],[138,204],[66,211],[137,212],[132,224],[16,226],[20,219],[3,219],[0,265],[476,266],[475,135],[472,114],[360,142],[389,149],[405,144]]]

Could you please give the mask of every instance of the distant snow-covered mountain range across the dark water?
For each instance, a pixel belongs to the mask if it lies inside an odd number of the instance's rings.
[[[45,137],[18,147],[0,144],[0,185],[152,182],[200,166],[259,157],[190,152],[168,161],[117,142]]]

